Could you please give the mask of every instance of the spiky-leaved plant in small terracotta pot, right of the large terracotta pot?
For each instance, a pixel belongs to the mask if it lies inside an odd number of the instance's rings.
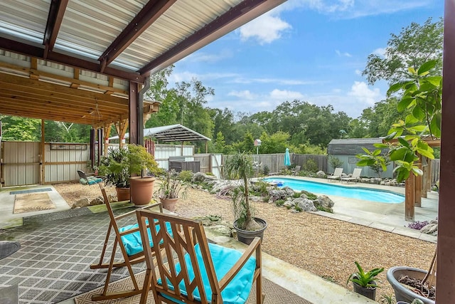
[[[164,209],[173,212],[180,197],[186,196],[186,182],[177,179],[175,170],[166,172],[159,178],[161,184],[158,190],[158,197]]]

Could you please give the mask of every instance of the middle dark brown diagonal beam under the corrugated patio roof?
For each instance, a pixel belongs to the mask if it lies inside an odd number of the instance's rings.
[[[102,69],[112,63],[131,43],[133,43],[141,33],[151,26],[152,23],[159,19],[164,12],[174,4],[176,0],[151,0],[139,13],[134,16],[134,19],[124,28],[122,33],[115,38],[111,45],[98,58]]]

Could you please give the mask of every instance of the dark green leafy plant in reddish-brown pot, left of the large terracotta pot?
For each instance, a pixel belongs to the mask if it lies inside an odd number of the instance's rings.
[[[115,186],[117,201],[129,200],[129,160],[128,150],[109,149],[107,157],[101,159],[99,173],[105,176],[105,182]]]

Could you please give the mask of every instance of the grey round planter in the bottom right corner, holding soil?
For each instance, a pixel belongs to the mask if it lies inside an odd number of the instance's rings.
[[[434,300],[429,298],[424,298],[422,295],[413,293],[410,289],[403,286],[398,280],[402,276],[410,276],[410,278],[417,278],[422,280],[427,271],[422,271],[422,269],[411,268],[411,267],[392,267],[387,271],[387,281],[392,285],[393,290],[395,290],[395,298],[397,301],[404,301],[411,303],[414,299],[422,300],[425,304],[434,304]]]

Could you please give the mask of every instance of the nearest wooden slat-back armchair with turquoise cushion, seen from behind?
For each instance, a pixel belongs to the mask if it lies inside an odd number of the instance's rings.
[[[137,217],[142,242],[150,238],[154,243],[162,242],[162,254],[155,247],[145,249],[147,271],[141,304],[146,303],[149,289],[156,303],[245,303],[254,281],[256,303],[262,303],[259,238],[242,254],[208,243],[198,221],[146,210],[138,210]],[[147,223],[155,223],[150,234]],[[173,235],[159,229],[166,224],[171,225]]]

